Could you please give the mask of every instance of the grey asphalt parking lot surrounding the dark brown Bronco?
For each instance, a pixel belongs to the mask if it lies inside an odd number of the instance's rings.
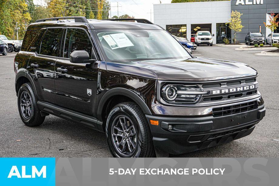
[[[279,57],[235,48],[199,46],[193,56],[239,61],[257,69],[266,116],[247,137],[177,157],[279,157]],[[111,157],[105,134],[98,131],[51,115],[39,127],[22,123],[14,87],[15,54],[0,55],[0,157]]]

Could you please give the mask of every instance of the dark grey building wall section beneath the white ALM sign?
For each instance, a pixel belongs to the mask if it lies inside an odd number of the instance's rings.
[[[231,10],[237,10],[242,13],[242,25],[244,28],[237,34],[237,39],[240,42],[245,42],[245,36],[248,32],[259,32],[260,25],[262,26],[262,33],[267,36],[271,31],[266,29],[263,22],[267,22],[268,13],[273,10],[279,12],[279,0],[263,0],[263,4],[259,5],[236,5],[237,0],[231,0]],[[246,2],[244,0],[244,2]],[[253,0],[249,0],[253,2]],[[234,31],[232,30],[232,38]]]

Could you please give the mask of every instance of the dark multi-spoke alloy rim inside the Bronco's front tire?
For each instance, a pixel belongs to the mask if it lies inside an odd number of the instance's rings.
[[[130,157],[137,147],[137,132],[133,122],[125,115],[119,115],[111,126],[111,139],[117,152]]]

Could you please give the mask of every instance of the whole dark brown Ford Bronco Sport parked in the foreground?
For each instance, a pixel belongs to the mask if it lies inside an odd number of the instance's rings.
[[[105,132],[114,157],[227,143],[249,135],[265,115],[255,69],[193,57],[144,19],[37,20],[14,69],[23,123],[39,126],[52,114],[84,124]]]

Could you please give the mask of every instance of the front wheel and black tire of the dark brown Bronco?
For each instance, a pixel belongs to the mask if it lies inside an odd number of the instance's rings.
[[[113,107],[106,122],[106,137],[113,157],[155,157],[146,117],[136,103]]]

